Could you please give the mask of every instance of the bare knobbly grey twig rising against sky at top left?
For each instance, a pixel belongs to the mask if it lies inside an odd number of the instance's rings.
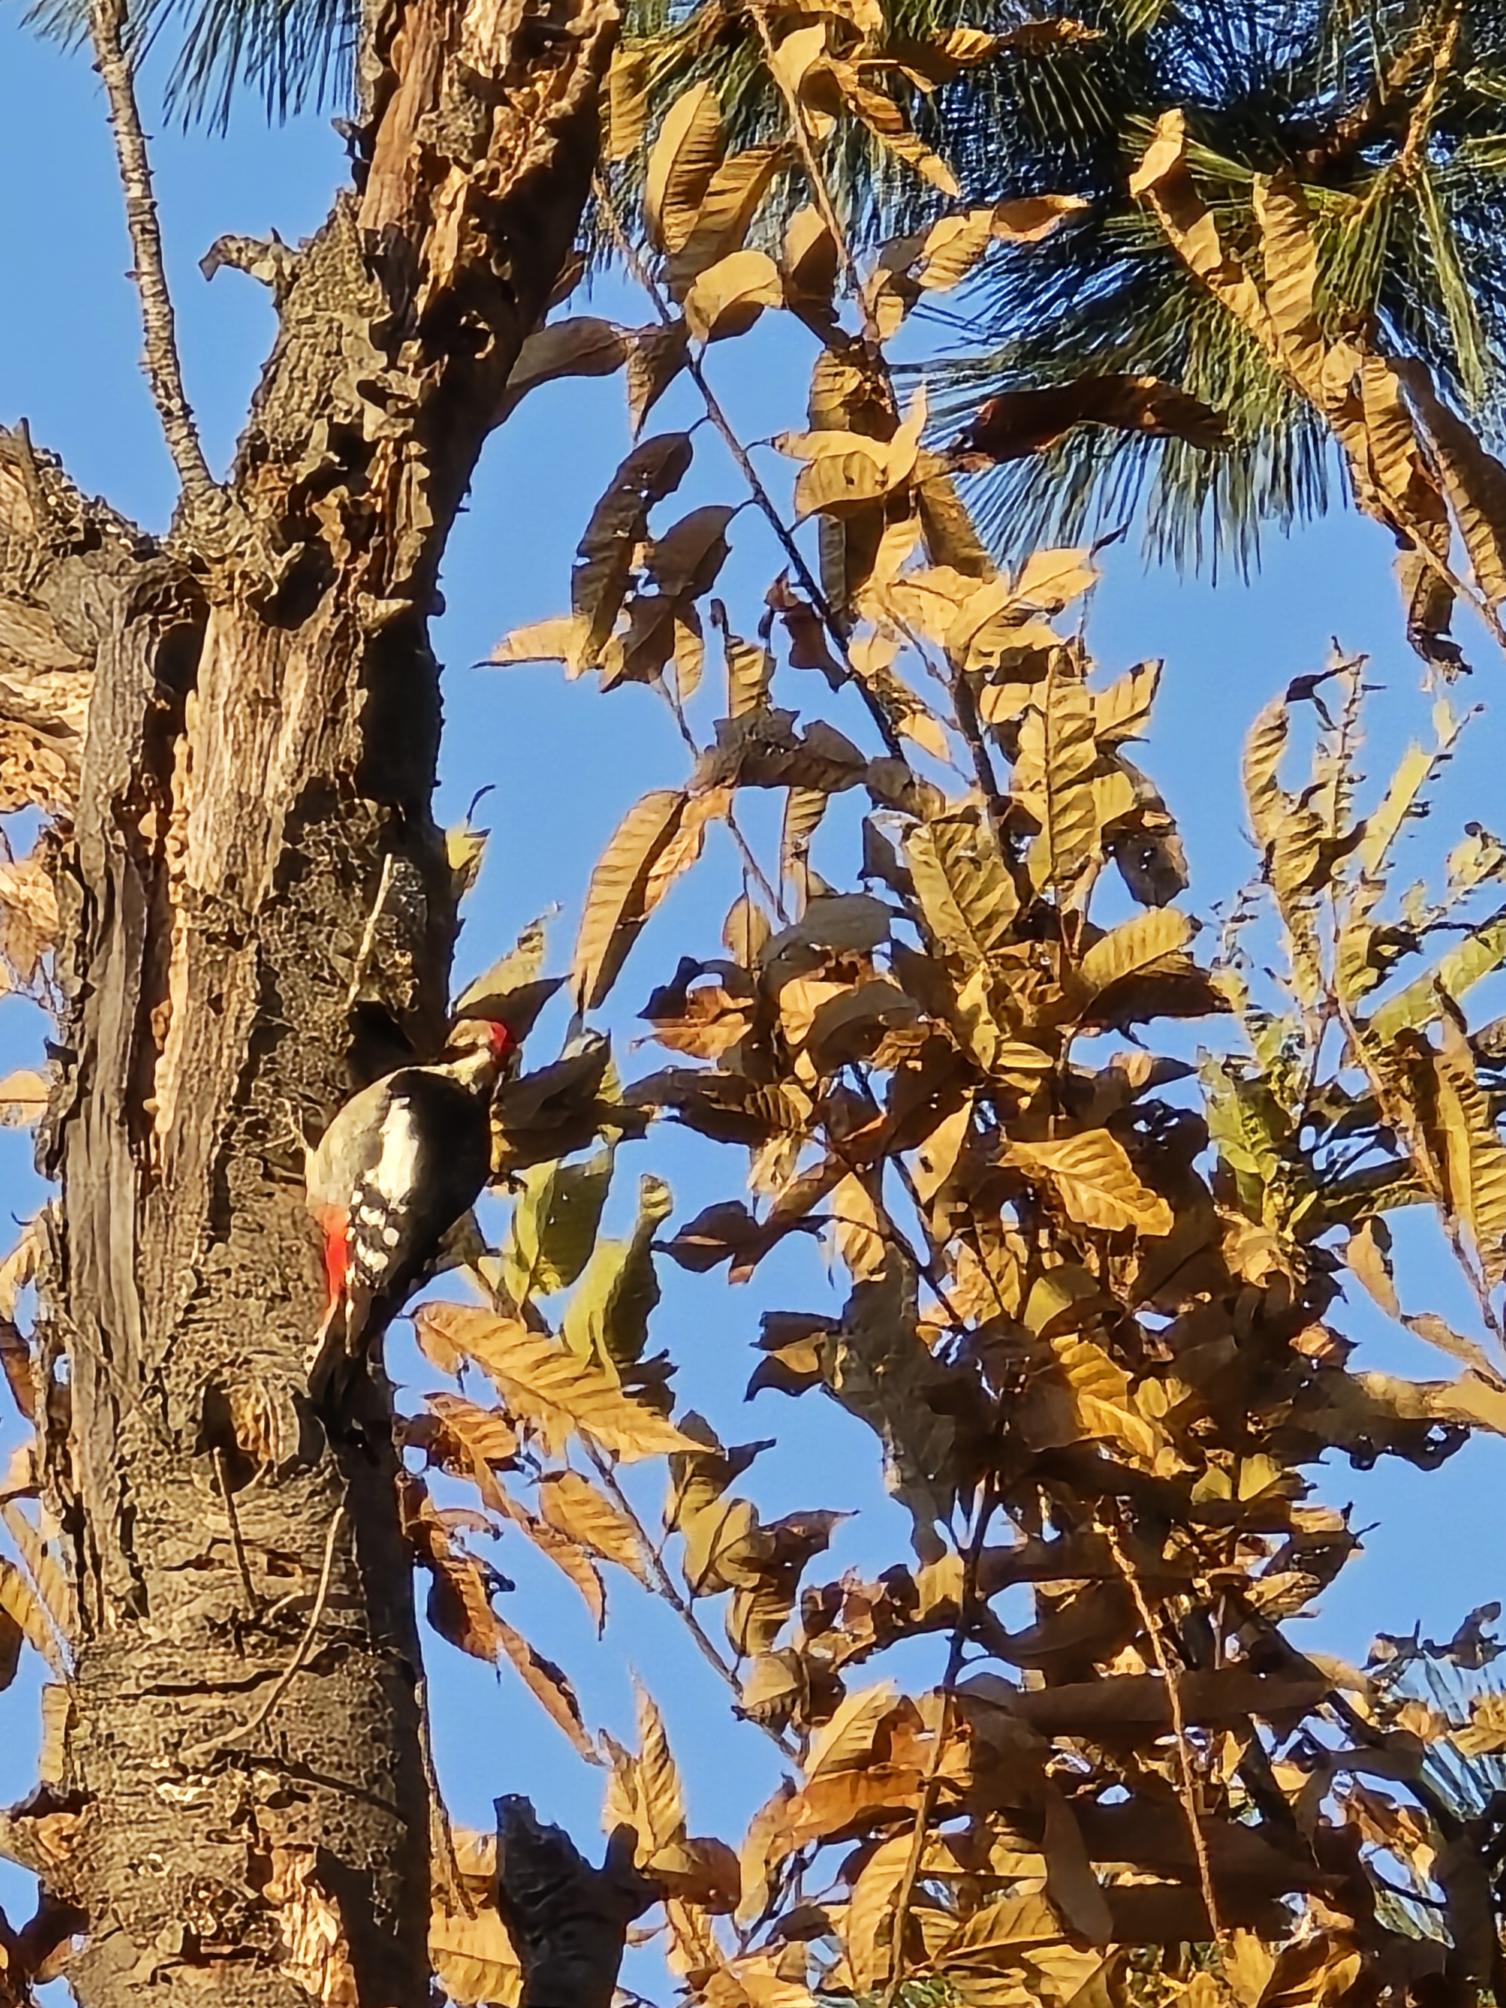
[[[167,289],[163,233],[157,225],[157,197],[153,195],[147,135],[141,129],[141,106],[137,104],[135,64],[124,46],[124,0],[94,0],[90,34],[94,62],[110,106],[114,157],[124,191],[127,229],[131,231],[131,251],[135,257],[133,277],[141,297],[147,382],[151,384],[167,450],[173,456],[173,466],[179,470],[185,498],[197,506],[217,504],[221,490],[209,472],[209,462],[193,424],[193,412],[183,392],[173,295]]]

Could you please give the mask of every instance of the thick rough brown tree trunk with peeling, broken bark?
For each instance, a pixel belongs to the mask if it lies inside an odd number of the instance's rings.
[[[428,2002],[388,1402],[380,1373],[337,1414],[301,1386],[291,1114],[444,1022],[428,618],[574,239],[614,18],[367,24],[357,187],[267,265],[229,528],[189,508],[155,546],[0,434],[0,751],[72,815],[38,1414],[78,1612],[62,1761],[4,1839],[88,1916],[84,2008]]]

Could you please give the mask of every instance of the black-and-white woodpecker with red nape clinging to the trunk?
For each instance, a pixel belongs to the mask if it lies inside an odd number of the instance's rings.
[[[305,1153],[327,1291],[311,1384],[341,1351],[355,1357],[371,1305],[400,1309],[476,1205],[492,1169],[492,1088],[514,1046],[504,1024],[462,1018],[432,1066],[361,1088]]]

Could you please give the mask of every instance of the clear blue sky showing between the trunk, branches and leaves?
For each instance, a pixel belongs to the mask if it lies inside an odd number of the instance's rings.
[[[171,277],[181,311],[189,394],[199,412],[211,462],[227,462],[271,335],[261,289],[237,273],[203,281],[197,261],[223,231],[287,241],[309,233],[341,177],[343,149],[323,120],[305,118],[267,133],[245,108],[229,139],[165,131],[157,145],[159,195]],[[18,26],[18,8],[0,14],[0,422],[26,416],[38,444],[62,454],[86,490],[161,528],[173,506],[173,482],[139,371],[139,323],[124,277],[129,247],[96,80],[80,56],[36,44]],[[588,303],[626,321],[651,309],[608,283]],[[791,363],[795,375],[789,373]],[[737,343],[713,373],[747,440],[799,424],[809,343],[771,327],[757,343]],[[673,392],[655,416],[659,428],[693,424],[699,414]],[[480,821],[494,827],[480,888],[470,902],[460,948],[464,978],[490,962],[532,916],[560,908],[558,956],[568,954],[572,918],[586,875],[626,805],[645,789],[683,777],[685,753],[663,707],[639,689],[602,699],[588,683],[564,685],[556,669],[478,669],[508,629],[562,612],[568,566],[596,492],[626,448],[626,420],[616,382],[562,384],[534,394],[498,434],[478,472],[444,574],[448,610],[438,624],[446,663],[448,737],[440,813],[452,821],[482,787]],[[735,482],[709,432],[697,434],[697,466],[679,502],[735,498]],[[735,558],[725,574],[733,622],[751,631],[761,590],[777,570],[761,522],[745,512],[735,524]],[[1118,671],[1149,655],[1167,659],[1161,713],[1145,765],[1179,813],[1193,861],[1193,904],[1207,914],[1251,865],[1243,833],[1237,755],[1255,711],[1293,675],[1319,669],[1331,637],[1347,651],[1367,651],[1384,687],[1371,717],[1371,775],[1388,765],[1410,733],[1426,735],[1418,665],[1406,649],[1390,550],[1373,524],[1335,516],[1289,542],[1273,542],[1251,586],[1213,590],[1169,572],[1145,572],[1133,542],[1104,554],[1104,582],[1090,612],[1090,641],[1104,669]],[[1494,697],[1500,667],[1484,643],[1480,675],[1464,699]],[[815,687],[819,691],[819,687]],[[813,691],[815,695],[815,691]],[[821,693],[823,695],[823,693]],[[791,699],[787,699],[791,701]],[[793,699],[797,701],[797,699]],[[861,737],[861,717],[845,719]],[[703,725],[705,729],[705,725]],[[1458,835],[1468,815],[1500,821],[1500,731],[1486,717],[1454,761],[1438,813],[1412,837],[1422,873]],[[755,803],[747,825],[767,843],[771,803]],[[829,875],[851,871],[845,831],[835,829]],[[821,851],[817,849],[817,863]],[[681,950],[713,944],[737,869],[729,849],[711,847],[707,867],[677,890],[661,924],[635,954],[620,986],[622,1036],[631,1012],[673,966]],[[1494,1008],[1502,1008],[1496,1004]],[[0,1000],[0,1058],[34,1060],[40,1026],[18,1000]],[[624,1072],[657,1064],[620,1050]],[[655,1137],[624,1153],[624,1195],[641,1169],[667,1175],[677,1211],[695,1213],[735,1189],[741,1167],[727,1153],[689,1137]],[[0,1209],[26,1217],[36,1205],[26,1139],[0,1135]],[[620,1209],[618,1209],[620,1211]],[[1456,1279],[1422,1223],[1408,1223],[1414,1257],[1410,1305],[1468,1317]],[[819,1255],[801,1245],[781,1255],[751,1289],[729,1293],[717,1277],[683,1277],[665,1267],[665,1303],[657,1343],[681,1363],[683,1400],[701,1408],[725,1440],[781,1434],[781,1446],[755,1468],[753,1492],[765,1514],[795,1506],[865,1508],[833,1542],[831,1574],[841,1566],[884,1566],[904,1554],[902,1516],[882,1498],[871,1440],[857,1424],[815,1396],[785,1404],[761,1396],[743,1408],[753,1363],[747,1341],[759,1307],[825,1301]],[[1349,1321],[1361,1337],[1359,1363],[1436,1375],[1438,1357],[1406,1333],[1382,1329],[1367,1307]],[[400,1353],[414,1384],[424,1367]],[[14,1434],[14,1432],[12,1432]],[[1371,1524],[1365,1554],[1329,1592],[1321,1614],[1301,1630],[1313,1649],[1359,1657],[1377,1628],[1408,1630],[1416,1618],[1446,1635],[1470,1608],[1498,1594],[1502,1568],[1488,1528],[1496,1524],[1502,1446],[1470,1446],[1438,1474],[1384,1466],[1371,1474],[1325,1470],[1319,1494],[1355,1502],[1357,1522]],[[657,1510],[657,1480],[641,1486]],[[548,1580],[546,1564],[520,1542],[504,1542],[498,1564],[516,1576],[508,1616],[574,1675],[586,1719],[616,1735],[631,1733],[631,1683],[637,1669],[659,1695],[671,1739],[689,1773],[691,1825],[737,1839],[749,1811],[777,1779],[775,1753],[751,1727],[727,1713],[727,1695],[661,1606],[624,1578],[612,1582],[612,1620],[596,1645],[572,1592]],[[715,1614],[709,1614],[715,1628]],[[914,1661],[924,1677],[924,1657]],[[600,1775],[586,1771],[538,1713],[512,1675],[498,1681],[430,1641],[440,1771],[456,1815],[490,1821],[490,1799],[526,1791],[548,1819],[564,1821],[590,1845],[600,1811]],[[0,1697],[0,1795],[30,1781],[34,1681]],[[0,1888],[0,1898],[4,1888]]]

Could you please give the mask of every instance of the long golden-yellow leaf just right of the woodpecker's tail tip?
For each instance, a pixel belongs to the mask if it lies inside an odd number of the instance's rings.
[[[629,1464],[697,1448],[663,1416],[624,1396],[600,1367],[530,1331],[520,1319],[468,1303],[424,1303],[414,1323],[420,1333],[438,1335],[474,1359],[508,1410],[538,1432],[550,1456],[562,1454],[572,1434],[590,1438]]]

